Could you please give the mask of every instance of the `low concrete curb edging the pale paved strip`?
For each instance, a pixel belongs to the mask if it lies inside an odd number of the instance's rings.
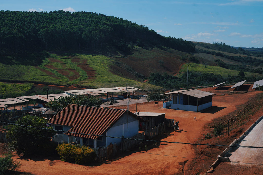
[[[257,121],[255,121],[255,123],[253,123],[253,124],[249,127],[249,129],[247,129],[247,130],[244,132],[244,134],[242,134],[238,139],[234,140],[234,141],[229,145],[229,147],[227,147],[227,148],[222,152],[221,155],[218,155],[217,160],[216,160],[212,165],[210,165],[210,168],[211,168],[211,167],[212,167],[212,168],[215,168],[216,166],[218,166],[218,164],[219,164],[220,162],[230,162],[229,158],[228,158],[228,157],[225,157],[226,154],[233,148],[233,147],[230,147],[230,146],[234,146],[237,142],[240,142],[241,140],[243,140],[243,139],[246,137],[246,135],[247,135],[262,119],[263,119],[263,115],[260,116],[260,118],[257,119]]]

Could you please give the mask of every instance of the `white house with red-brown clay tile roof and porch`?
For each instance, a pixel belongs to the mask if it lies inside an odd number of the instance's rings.
[[[132,137],[138,134],[139,119],[125,109],[69,104],[49,119],[49,123],[55,130],[62,130],[57,131],[54,141],[97,148],[122,141],[103,136]]]

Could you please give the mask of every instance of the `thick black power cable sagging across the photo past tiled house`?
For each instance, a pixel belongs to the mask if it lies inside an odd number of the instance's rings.
[[[6,123],[6,122],[3,122],[3,121],[0,121],[0,123],[10,124],[10,125],[16,125],[16,126],[22,126],[22,127],[28,127],[28,128],[35,128],[35,129],[43,129],[43,130],[50,130],[50,131],[60,131],[60,132],[66,132],[66,133],[70,133],[70,134],[80,134],[80,135],[89,135],[89,136],[109,137],[109,138],[114,138],[114,139],[127,139],[127,140],[138,140],[138,141],[164,142],[164,143],[186,144],[186,145],[223,146],[223,147],[237,147],[237,148],[263,148],[263,147],[259,147],[259,146],[235,146],[235,145],[193,144],[193,143],[185,143],[185,142],[170,142],[170,141],[160,141],[160,140],[134,139],[134,138],[125,138],[125,137],[113,137],[113,136],[105,136],[105,135],[97,135],[97,134],[85,134],[85,133],[78,133],[78,132],[69,132],[69,131],[54,130],[54,129],[48,129],[48,128],[37,128],[37,127],[34,127],[34,126],[25,126],[25,125],[13,124],[13,123]]]

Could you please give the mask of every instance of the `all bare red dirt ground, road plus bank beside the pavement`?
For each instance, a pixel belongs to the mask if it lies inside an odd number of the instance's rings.
[[[161,138],[155,138],[156,140],[185,143],[202,142],[206,144],[217,142],[218,144],[229,145],[244,132],[241,133],[237,129],[231,131],[230,136],[224,133],[225,140],[228,139],[227,142],[214,136],[211,139],[204,140],[203,134],[209,130],[208,126],[211,126],[212,122],[215,120],[222,121],[220,119],[224,121],[225,118],[229,118],[231,112],[236,111],[240,105],[246,104],[262,91],[254,91],[251,87],[247,93],[230,93],[232,89],[205,88],[201,90],[216,94],[213,95],[213,108],[202,113],[163,109],[161,101],[157,105],[154,102],[137,103],[137,111],[166,113],[166,118],[180,122],[178,132],[172,129],[167,130],[160,136]],[[127,109],[127,106],[115,106],[114,108]],[[130,111],[136,111],[135,104],[130,105]],[[261,115],[262,109],[251,116],[252,118],[243,126],[242,130],[249,128]],[[48,158],[27,159],[15,154],[13,159],[22,164],[18,168],[19,172],[32,174],[204,174],[216,160],[217,155],[219,155],[218,152],[225,149],[224,147],[211,148],[165,142],[161,142],[157,146],[148,145],[149,151],[147,152],[129,151],[115,160],[93,166],[75,165]],[[202,155],[199,155],[200,152]],[[247,173],[247,171],[249,172]],[[235,167],[228,163],[220,163],[213,174],[249,174],[251,172],[262,174],[262,169],[260,171],[258,167],[251,167],[250,165]]]

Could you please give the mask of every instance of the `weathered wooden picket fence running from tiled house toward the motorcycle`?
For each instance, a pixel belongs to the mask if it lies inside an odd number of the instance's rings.
[[[162,134],[165,132],[165,123],[160,123],[158,126],[155,126],[154,128],[148,129],[140,134],[137,134],[131,138],[133,139],[150,139],[153,138],[159,134]],[[147,137],[147,138],[146,138]],[[120,146],[117,146],[116,144],[109,145],[108,147],[98,148],[94,149],[95,153],[97,154],[96,161],[97,162],[103,162],[105,160],[112,159],[116,157],[119,153],[125,152],[127,150],[130,150],[132,148],[138,147],[138,144],[142,142],[141,140],[123,140],[120,144]]]

